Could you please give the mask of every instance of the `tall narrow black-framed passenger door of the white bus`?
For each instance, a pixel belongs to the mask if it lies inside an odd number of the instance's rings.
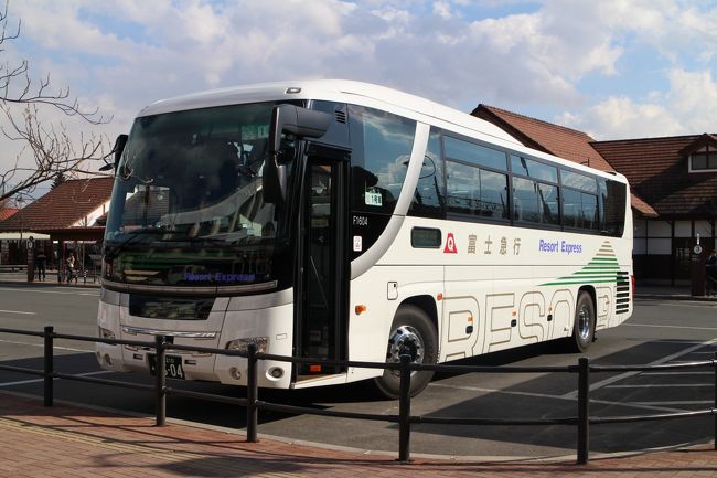
[[[331,151],[323,151],[323,148],[312,152],[306,170],[303,233],[299,238],[303,257],[300,259],[302,300],[298,305],[298,350],[306,358],[342,360],[346,358],[349,283],[343,233],[347,167],[345,161],[328,159]],[[341,371],[339,367],[319,363],[299,364],[297,380]]]

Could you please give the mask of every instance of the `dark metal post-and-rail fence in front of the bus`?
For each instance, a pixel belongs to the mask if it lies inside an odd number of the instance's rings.
[[[398,459],[400,461],[408,461],[410,459],[410,433],[411,425],[414,424],[448,424],[448,425],[521,425],[521,426],[541,426],[541,425],[572,425],[577,426],[577,463],[587,464],[589,459],[589,436],[590,425],[602,425],[612,423],[630,423],[630,422],[644,422],[644,421],[660,421],[683,417],[707,416],[714,417],[714,435],[717,438],[717,353],[711,360],[695,361],[676,364],[660,364],[660,365],[592,365],[587,358],[578,359],[577,365],[569,367],[477,367],[477,365],[438,365],[438,364],[415,364],[410,363],[408,355],[402,355],[399,363],[375,363],[375,362],[357,362],[357,361],[332,361],[320,360],[311,358],[297,358],[274,355],[269,353],[258,353],[256,346],[250,344],[247,352],[226,350],[226,349],[212,349],[203,347],[188,347],[168,343],[167,338],[163,336],[156,337],[154,342],[145,342],[138,340],[114,340],[100,339],[96,337],[85,336],[71,336],[63,333],[55,333],[53,327],[45,327],[44,331],[29,331],[18,329],[0,328],[0,333],[14,333],[22,336],[34,336],[44,338],[44,369],[26,369],[20,367],[11,367],[0,364],[0,370],[9,372],[28,373],[44,378],[44,405],[53,405],[53,381],[55,379],[75,380],[81,382],[89,382],[113,386],[122,386],[128,389],[153,391],[156,394],[156,424],[163,426],[167,419],[167,396],[176,395],[199,400],[207,400],[214,402],[223,402],[228,404],[236,404],[246,407],[246,437],[247,442],[255,443],[257,440],[258,427],[258,412],[260,410],[286,412],[296,414],[312,414],[323,415],[341,418],[357,418],[370,421],[382,421],[398,424]],[[133,347],[153,347],[156,352],[156,382],[153,385],[146,385],[139,383],[130,383],[115,380],[97,379],[90,376],[77,376],[66,373],[56,372],[54,370],[54,355],[53,342],[55,339],[77,340],[84,342],[101,342],[118,346],[133,346]],[[247,359],[247,393],[246,399],[227,397],[222,395],[213,395],[208,393],[194,392],[188,390],[173,389],[167,385],[167,370],[164,357],[167,350],[183,350],[199,353],[216,353],[224,355],[242,357]],[[324,363],[327,365],[339,367],[354,367],[354,368],[368,368],[368,369],[389,369],[399,370],[400,372],[400,393],[398,415],[377,415],[367,413],[353,413],[353,412],[336,412],[331,410],[317,410],[309,407],[300,407],[292,405],[283,405],[278,403],[264,402],[259,400],[259,390],[257,386],[257,363],[259,360],[274,360],[291,363]],[[596,417],[590,416],[590,374],[592,372],[641,372],[652,370],[681,370],[692,369],[699,367],[711,367],[715,370],[715,406],[707,410],[689,411],[689,412],[675,412],[662,413],[652,415],[630,415],[630,416],[612,416],[612,417]],[[436,372],[480,372],[480,373],[574,373],[578,375],[578,404],[575,416],[561,418],[536,418],[536,419],[511,419],[511,418],[467,418],[467,417],[432,417],[432,416],[415,416],[410,414],[410,374],[413,371],[432,370]],[[715,440],[715,449],[717,449],[717,439]]]

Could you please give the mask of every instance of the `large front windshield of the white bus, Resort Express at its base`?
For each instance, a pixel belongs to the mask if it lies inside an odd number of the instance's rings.
[[[106,280],[192,288],[276,283],[288,227],[281,208],[263,195],[272,106],[137,118],[107,217]]]

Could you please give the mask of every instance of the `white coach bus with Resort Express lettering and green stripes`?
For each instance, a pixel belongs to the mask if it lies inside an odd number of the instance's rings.
[[[632,312],[624,177],[381,86],[311,81],[161,100],[118,138],[103,338],[315,359],[440,363],[561,339]],[[116,371],[151,350],[97,346]],[[246,384],[246,360],[169,352],[170,378]],[[259,362],[259,386],[390,371]],[[430,372],[415,373],[411,393]]]

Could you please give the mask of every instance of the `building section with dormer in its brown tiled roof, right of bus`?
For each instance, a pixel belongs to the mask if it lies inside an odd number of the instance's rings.
[[[635,272],[660,279],[687,279],[697,236],[703,255],[715,248],[717,136],[596,141],[595,149],[657,212],[635,217]]]

